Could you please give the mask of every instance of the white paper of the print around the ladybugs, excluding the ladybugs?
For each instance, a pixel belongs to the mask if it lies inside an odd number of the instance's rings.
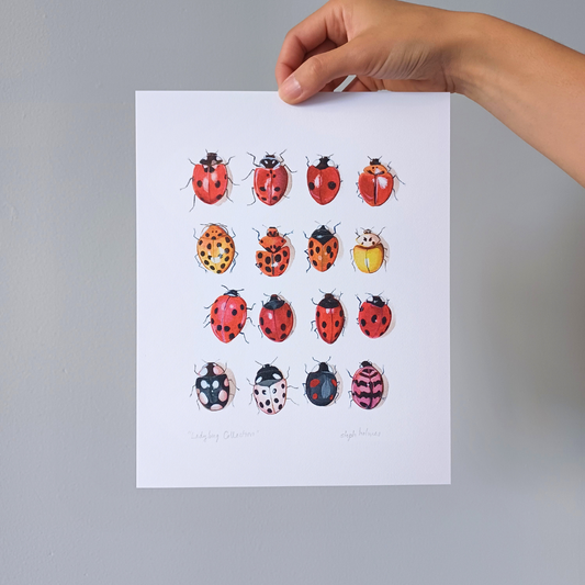
[[[217,151],[234,182],[220,205],[180,191],[205,150]],[[281,153],[292,171],[288,199],[252,201],[251,157]],[[306,188],[306,160],[333,155],[342,184],[333,203],[316,204]],[[357,195],[368,157],[391,162],[404,182],[381,207]],[[450,482],[449,425],[449,95],[329,94],[291,108],[268,92],[139,92],[137,94],[138,479],[139,486],[360,485]],[[217,275],[195,261],[202,225],[235,233],[232,271]],[[334,267],[306,272],[307,235],[340,222]],[[279,226],[295,251],[288,271],[268,278],[255,266],[257,228]],[[380,232],[389,261],[374,274],[353,269],[357,228]],[[226,285],[241,290],[255,325],[266,294],[282,294],[296,326],[282,344],[248,323],[249,344],[222,344],[203,328],[204,307]],[[329,346],[311,328],[320,291],[342,292],[342,337]],[[394,328],[368,339],[357,325],[358,300],[389,300]],[[329,360],[339,400],[316,407],[303,395],[305,367]],[[285,408],[258,413],[251,387],[260,363],[290,372]],[[360,362],[384,368],[386,401],[375,410],[351,405],[350,378]],[[190,397],[205,361],[226,363],[239,391],[222,412]]]

